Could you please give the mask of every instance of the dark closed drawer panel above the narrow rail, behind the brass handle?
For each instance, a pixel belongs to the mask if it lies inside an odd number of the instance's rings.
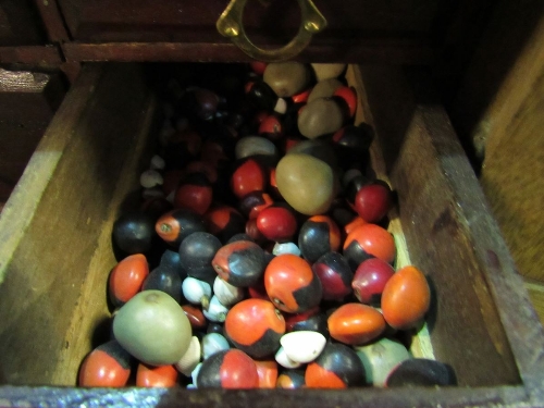
[[[224,0],[58,0],[73,37],[82,42],[219,42],[215,22]],[[316,41],[430,38],[438,0],[316,0],[327,28]],[[104,12],[108,10],[108,12]],[[244,26],[257,44],[285,44],[300,25],[298,3],[249,1]]]

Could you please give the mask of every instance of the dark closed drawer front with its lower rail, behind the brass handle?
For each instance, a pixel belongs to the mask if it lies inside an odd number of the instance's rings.
[[[57,1],[73,39],[62,45],[69,60],[249,61],[215,28],[225,0]],[[327,26],[297,57],[307,61],[429,63],[462,9],[441,0],[314,4]],[[255,44],[279,48],[297,33],[300,14],[297,1],[249,1],[244,26]]]

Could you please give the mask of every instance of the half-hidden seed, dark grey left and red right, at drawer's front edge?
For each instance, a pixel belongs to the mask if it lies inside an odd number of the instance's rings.
[[[202,362],[197,375],[198,388],[257,388],[259,374],[255,361],[232,348],[215,353]]]

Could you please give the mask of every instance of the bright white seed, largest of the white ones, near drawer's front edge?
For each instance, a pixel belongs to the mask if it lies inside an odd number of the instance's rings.
[[[284,334],[280,344],[289,360],[305,364],[318,358],[325,347],[326,338],[319,332],[299,331]]]

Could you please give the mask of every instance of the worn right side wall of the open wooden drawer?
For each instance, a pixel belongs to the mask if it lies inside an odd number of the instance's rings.
[[[543,329],[445,112],[428,84],[412,91],[395,67],[361,72],[408,248],[434,290],[436,358],[461,385],[520,375],[541,397]]]

